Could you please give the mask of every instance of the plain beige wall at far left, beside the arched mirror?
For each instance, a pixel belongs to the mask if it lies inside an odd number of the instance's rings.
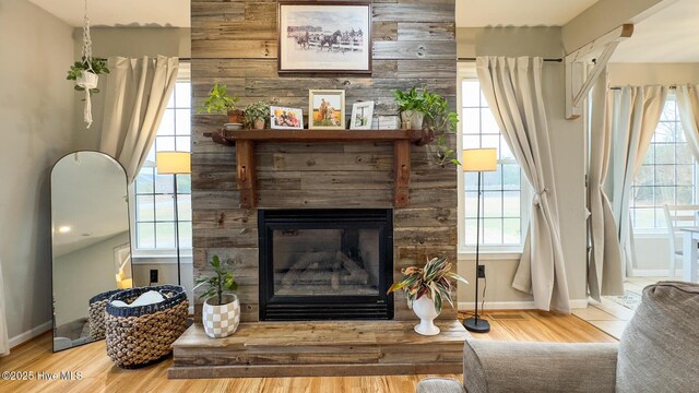
[[[0,260],[10,337],[51,319],[49,170],[73,144],[72,27],[0,0]]]

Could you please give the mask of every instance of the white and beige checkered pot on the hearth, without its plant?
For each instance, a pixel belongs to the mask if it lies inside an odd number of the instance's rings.
[[[240,324],[240,302],[233,294],[224,294],[224,305],[215,306],[217,297],[210,297],[202,308],[202,323],[204,332],[212,338],[222,338],[232,335]]]

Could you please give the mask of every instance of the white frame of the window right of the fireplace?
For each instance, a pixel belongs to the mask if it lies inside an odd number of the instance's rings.
[[[457,106],[459,108],[459,127],[458,127],[458,138],[457,138],[457,151],[462,152],[463,146],[463,127],[461,121],[462,119],[462,109],[463,109],[463,97],[462,97],[462,83],[464,81],[478,81],[478,76],[475,69],[475,63],[458,63],[457,69]],[[479,81],[478,81],[479,82]],[[517,164],[514,159],[501,160],[498,159],[498,164]],[[459,230],[459,258],[462,260],[473,260],[475,259],[475,246],[466,246],[465,245],[465,184],[464,184],[464,175],[461,167],[458,168],[459,176],[458,178],[458,230]],[[526,234],[530,225],[530,214],[531,214],[531,201],[532,201],[532,190],[529,186],[529,181],[524,177],[523,171],[520,167],[520,225],[521,225],[521,234],[522,239],[520,245],[514,246],[479,246],[479,255],[481,260],[519,260],[521,259],[522,251],[524,249],[524,242],[526,241]]]

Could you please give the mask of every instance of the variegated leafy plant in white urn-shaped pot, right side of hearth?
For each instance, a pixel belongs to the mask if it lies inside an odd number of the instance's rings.
[[[452,264],[446,258],[433,258],[427,261],[425,267],[411,266],[401,270],[403,278],[395,282],[388,293],[403,289],[407,298],[407,306],[419,318],[419,324],[415,325],[415,332],[422,335],[439,334],[439,327],[435,325],[435,318],[441,312],[447,300],[454,307],[451,298],[452,285],[450,279],[469,284],[465,278],[451,272]]]

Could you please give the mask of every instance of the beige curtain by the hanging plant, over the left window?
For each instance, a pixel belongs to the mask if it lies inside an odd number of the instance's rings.
[[[177,82],[178,58],[109,58],[99,151],[133,181],[143,166]]]

